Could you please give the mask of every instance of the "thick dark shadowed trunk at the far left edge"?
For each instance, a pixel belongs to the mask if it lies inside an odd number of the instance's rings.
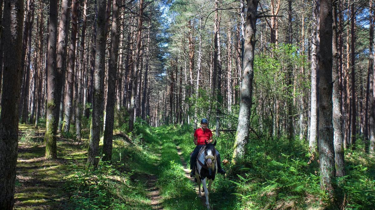
[[[52,3],[53,6],[53,3]],[[51,11],[53,12],[53,10]],[[22,0],[5,0],[4,71],[0,117],[0,209],[13,209],[18,148],[18,103],[21,90]]]

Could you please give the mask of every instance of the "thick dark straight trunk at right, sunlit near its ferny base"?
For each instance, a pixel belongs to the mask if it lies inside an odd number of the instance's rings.
[[[320,186],[334,198],[335,151],[332,123],[332,0],[320,1],[319,14],[319,134]]]

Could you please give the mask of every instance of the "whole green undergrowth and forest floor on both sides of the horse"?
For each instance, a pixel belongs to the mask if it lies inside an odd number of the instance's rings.
[[[126,132],[126,127],[119,129]],[[16,209],[206,209],[177,154],[178,145],[189,163],[195,146],[189,126],[135,123],[135,134],[129,134],[133,143],[115,139],[112,164],[101,161],[97,170],[85,166],[87,139],[77,145],[60,138],[58,159],[46,160],[43,132],[20,125]],[[224,133],[216,140],[222,159],[230,161],[233,135]],[[226,176],[216,176],[210,193],[213,209],[324,209],[329,204],[320,190],[318,157],[310,161],[304,142],[251,138],[246,149],[236,166],[223,166]],[[359,146],[346,150],[345,163],[347,176],[337,180],[345,208],[372,209],[374,156]],[[150,186],[157,189],[158,206],[151,204]]]

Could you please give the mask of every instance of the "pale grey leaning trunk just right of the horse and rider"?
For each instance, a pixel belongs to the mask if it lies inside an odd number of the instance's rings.
[[[246,14],[245,46],[242,61],[242,84],[239,120],[236,139],[233,147],[233,160],[235,164],[245,154],[245,145],[249,139],[250,112],[252,104],[253,78],[254,78],[254,50],[255,34],[257,31],[258,0],[248,0],[248,11]]]

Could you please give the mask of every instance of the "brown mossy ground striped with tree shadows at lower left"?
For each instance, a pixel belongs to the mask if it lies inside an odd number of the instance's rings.
[[[64,177],[73,172],[71,164],[83,165],[87,152],[68,139],[57,139],[57,160],[44,157],[44,130],[21,124],[18,143],[15,209],[66,209],[69,193]]]

